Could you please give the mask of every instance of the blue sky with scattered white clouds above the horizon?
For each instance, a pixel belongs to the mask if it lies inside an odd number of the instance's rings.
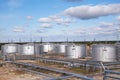
[[[120,0],[0,0],[0,42],[119,39]]]

